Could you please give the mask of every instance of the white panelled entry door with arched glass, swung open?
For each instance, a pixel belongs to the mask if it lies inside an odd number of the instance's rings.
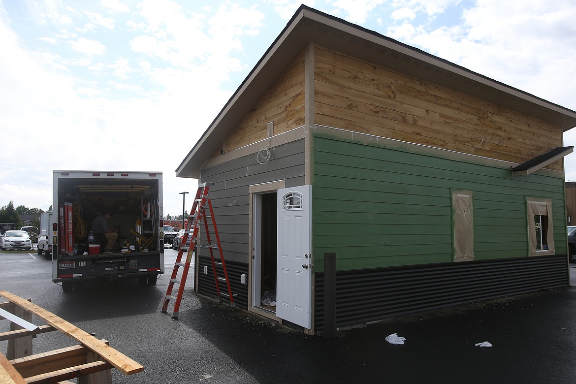
[[[276,316],[310,328],[312,223],[311,185],[278,190]]]

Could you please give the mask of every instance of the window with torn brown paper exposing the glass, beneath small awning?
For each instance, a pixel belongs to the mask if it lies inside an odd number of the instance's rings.
[[[529,255],[554,254],[552,200],[526,198]]]

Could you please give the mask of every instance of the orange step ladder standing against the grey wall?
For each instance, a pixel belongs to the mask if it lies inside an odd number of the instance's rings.
[[[184,231],[184,237],[180,243],[180,249],[178,250],[178,256],[176,257],[176,263],[174,264],[174,269],[172,271],[172,276],[170,277],[170,282],[168,283],[168,289],[166,290],[166,295],[162,299],[162,313],[168,311],[168,305],[170,301],[174,302],[174,309],[172,311],[172,318],[177,318],[180,310],[180,302],[182,301],[182,294],[184,292],[184,286],[186,284],[186,279],[188,277],[188,270],[190,269],[190,262],[192,256],[194,255],[196,245],[198,244],[198,237],[200,232],[200,225],[204,223],[204,230],[206,231],[207,244],[198,245],[198,248],[207,248],[210,251],[210,260],[212,261],[212,271],[214,272],[214,282],[216,283],[216,293],[218,295],[218,301],[222,302],[222,296],[228,296],[230,299],[230,305],[234,305],[234,296],[232,294],[232,288],[230,288],[230,280],[228,279],[228,271],[226,271],[226,263],[224,261],[224,255],[222,254],[222,247],[220,245],[220,236],[218,235],[218,229],[216,227],[216,221],[214,219],[214,210],[212,209],[212,202],[208,196],[208,190],[210,185],[213,183],[202,183],[198,184],[198,191],[196,191],[196,197],[194,199],[194,205],[190,211],[191,216],[188,219],[188,224],[186,230]],[[208,210],[206,210],[208,206]],[[209,221],[210,219],[210,221]],[[211,225],[211,228],[209,227]],[[190,246],[187,246],[188,237],[191,237]],[[212,237],[216,240],[216,243],[212,243]],[[218,249],[220,254],[220,261],[214,260],[214,249]],[[182,261],[182,256],[184,253],[187,254],[186,260]],[[219,277],[216,271],[216,265],[222,265],[224,272],[224,277]],[[180,268],[181,271],[180,271]],[[181,272],[181,273],[180,273]],[[228,288],[228,293],[221,292],[220,283],[226,282],[226,287]],[[178,285],[176,296],[172,295],[172,291]]]

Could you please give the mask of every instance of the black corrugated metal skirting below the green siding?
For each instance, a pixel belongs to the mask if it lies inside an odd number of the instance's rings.
[[[324,329],[324,273],[314,273],[315,327]],[[336,327],[570,284],[565,254],[336,272]]]

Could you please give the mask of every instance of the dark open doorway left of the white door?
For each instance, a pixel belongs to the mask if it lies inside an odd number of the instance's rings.
[[[254,195],[252,306],[276,313],[277,193]]]

